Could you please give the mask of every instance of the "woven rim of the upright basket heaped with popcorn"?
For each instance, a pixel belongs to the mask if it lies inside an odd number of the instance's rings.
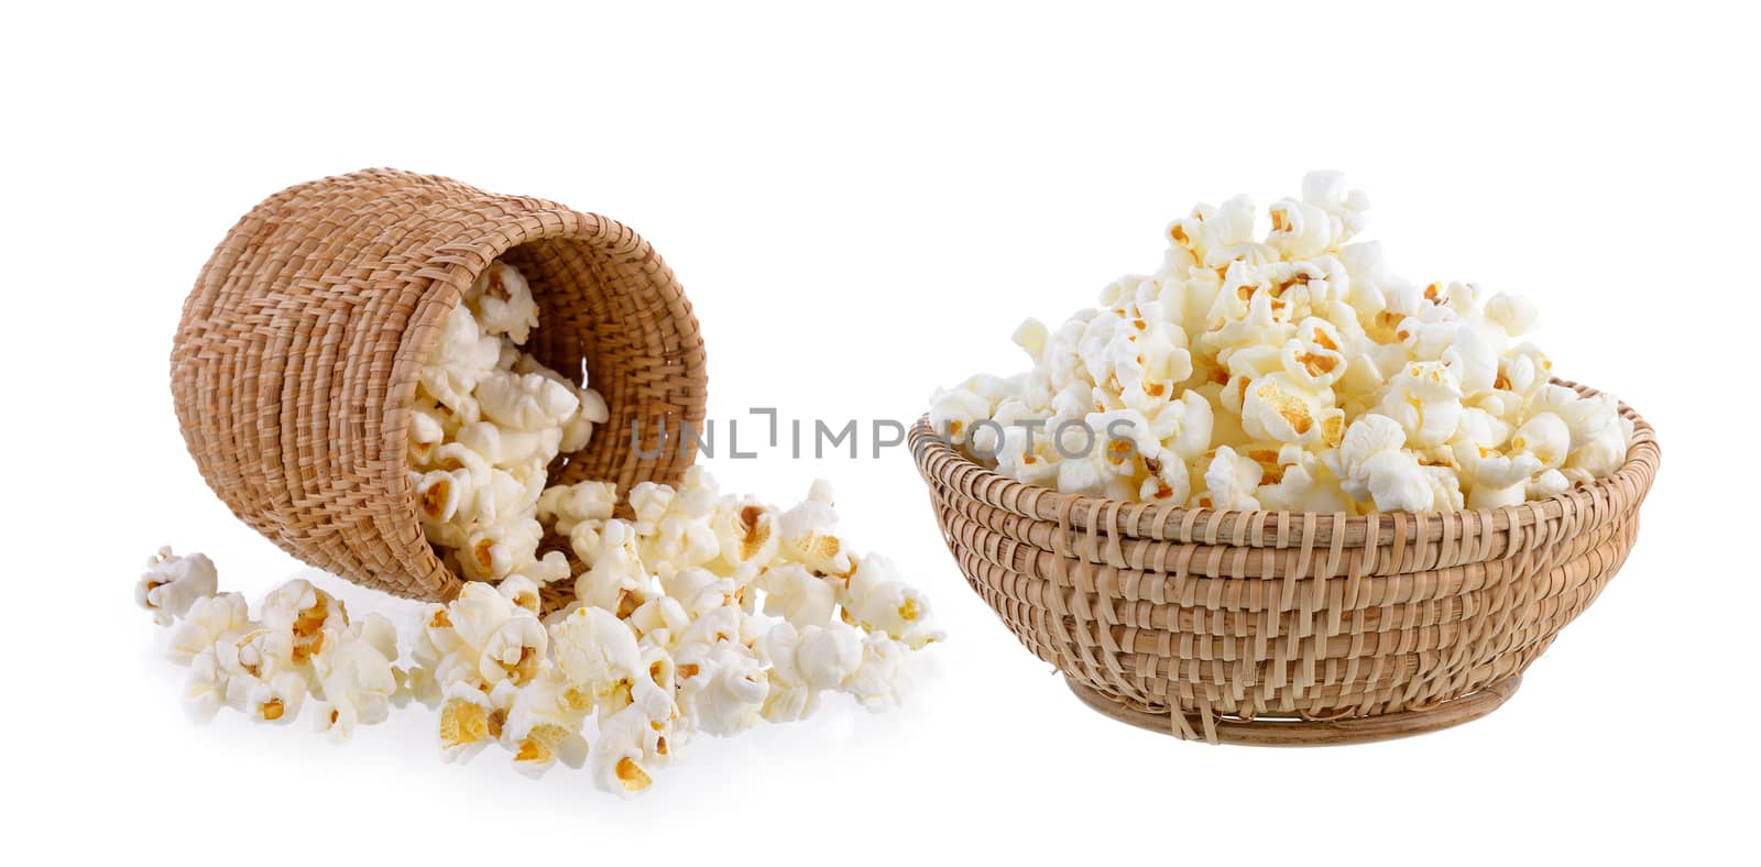
[[[1567,379],[1553,377],[1551,382],[1571,388],[1583,396],[1601,393]],[[940,483],[962,497],[991,504],[1021,518],[1051,523],[1062,522],[1072,530],[1088,530],[1099,525],[1101,530],[1116,530],[1134,539],[1284,548],[1287,543],[1280,539],[1291,536],[1284,530],[1307,527],[1310,532],[1305,536],[1314,545],[1333,545],[1337,530],[1344,536],[1342,546],[1361,548],[1367,545],[1388,545],[1395,539],[1437,541],[1449,532],[1446,525],[1469,525],[1469,522],[1492,530],[1557,522],[1588,509],[1594,502],[1611,499],[1611,488],[1618,483],[1629,483],[1638,499],[1643,499],[1657,476],[1657,463],[1662,456],[1657,446],[1657,434],[1638,411],[1624,402],[1617,400],[1617,404],[1620,416],[1632,421],[1632,442],[1627,446],[1627,458],[1620,469],[1610,476],[1597,478],[1583,488],[1573,488],[1544,500],[1499,506],[1495,509],[1349,515],[1282,509],[1212,509],[1183,504],[1136,502],[1085,493],[1062,493],[1057,488],[1004,476],[967,458],[937,435],[930,428],[928,412],[919,416],[916,425],[912,425],[909,442],[917,472],[925,483]],[[1266,532],[1268,525],[1273,532]],[[1266,536],[1270,539],[1264,539]]]

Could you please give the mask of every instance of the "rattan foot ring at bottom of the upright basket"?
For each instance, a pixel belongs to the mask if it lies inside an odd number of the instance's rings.
[[[1065,678],[1065,682],[1071,685],[1071,693],[1076,693],[1076,698],[1083,700],[1085,705],[1106,714],[1108,717],[1138,728],[1146,728],[1150,731],[1160,731],[1164,735],[1173,733],[1168,714],[1138,710],[1120,703],[1118,700],[1108,698],[1094,687],[1078,684],[1071,678]],[[1470,696],[1462,696],[1421,710],[1402,710],[1398,714],[1374,717],[1331,721],[1266,717],[1243,721],[1226,717],[1215,722],[1217,742],[1247,744],[1254,747],[1326,747],[1338,744],[1372,744],[1377,740],[1425,735],[1426,731],[1440,731],[1492,714],[1516,693],[1516,687],[1522,685],[1522,675],[1514,675]],[[1189,722],[1194,731],[1205,731],[1199,719],[1189,719]]]

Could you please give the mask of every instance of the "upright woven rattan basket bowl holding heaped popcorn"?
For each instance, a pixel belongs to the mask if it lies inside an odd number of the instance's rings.
[[[1650,425],[1620,412],[1613,476],[1428,515],[1064,495],[967,460],[928,418],[910,448],[967,582],[1090,707],[1213,744],[1349,744],[1490,714],[1595,599],[1657,472]]]

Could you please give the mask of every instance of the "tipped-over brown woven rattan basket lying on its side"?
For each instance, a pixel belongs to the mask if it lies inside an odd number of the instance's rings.
[[[553,478],[673,483],[701,421],[704,354],[673,271],[592,213],[370,169],[282,190],[247,213],[183,307],[171,389],[208,485],[294,557],[398,596],[461,580],[423,537],[407,476],[416,379],[440,321],[493,259],[532,284],[527,349],[592,372],[611,411]],[[641,453],[630,449],[641,423]]]

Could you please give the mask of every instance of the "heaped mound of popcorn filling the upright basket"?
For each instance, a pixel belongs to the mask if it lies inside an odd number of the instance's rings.
[[[1632,423],[1551,384],[1536,308],[1479,285],[1412,284],[1338,173],[1270,208],[1199,204],[1162,268],[1122,277],[1032,368],[932,396],[933,430],[1018,481],[1215,509],[1449,511],[1544,499],[1615,472]]]

